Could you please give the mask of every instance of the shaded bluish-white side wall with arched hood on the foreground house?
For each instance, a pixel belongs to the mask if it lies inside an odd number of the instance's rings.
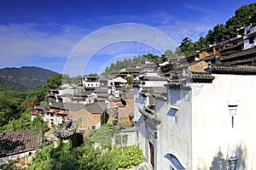
[[[186,169],[191,169],[192,132],[190,90],[168,90],[168,101],[158,111],[162,122],[157,139],[157,169],[174,169],[172,154]]]

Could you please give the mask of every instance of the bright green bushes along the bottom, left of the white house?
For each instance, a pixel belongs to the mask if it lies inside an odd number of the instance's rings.
[[[28,169],[116,170],[134,167],[142,162],[143,151],[137,146],[108,150],[92,143],[76,147],[71,142],[63,144],[60,141],[56,148],[47,145],[38,150]]]

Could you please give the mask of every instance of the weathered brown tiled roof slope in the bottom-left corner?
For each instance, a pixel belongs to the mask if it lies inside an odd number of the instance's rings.
[[[37,136],[31,129],[0,133],[0,157],[11,156],[20,152],[42,147],[42,130]]]

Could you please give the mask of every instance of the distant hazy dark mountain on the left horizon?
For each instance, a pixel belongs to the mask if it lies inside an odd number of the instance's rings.
[[[35,66],[0,69],[0,78],[5,81],[15,82],[16,84],[26,86],[27,88],[45,86],[46,80],[49,77],[53,77],[55,74],[55,71],[49,71]]]

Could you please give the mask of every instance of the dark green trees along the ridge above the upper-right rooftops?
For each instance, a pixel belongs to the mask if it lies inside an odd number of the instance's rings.
[[[198,41],[192,42],[189,37],[184,37],[179,48],[183,54],[192,54],[196,50],[207,48],[210,44],[222,42],[226,39],[236,37],[236,29],[250,23],[250,18],[256,15],[256,3],[243,5],[236,9],[236,13],[225,24],[218,24],[207,32],[206,37],[200,37]]]

